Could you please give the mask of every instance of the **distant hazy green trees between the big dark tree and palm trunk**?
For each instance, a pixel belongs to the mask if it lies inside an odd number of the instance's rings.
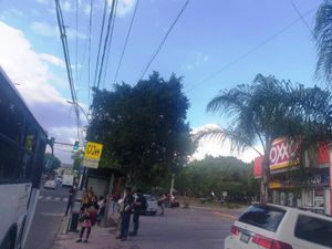
[[[235,157],[206,157],[194,160],[176,177],[175,188],[179,193],[191,193],[196,197],[209,196],[211,191],[220,198],[222,191],[234,199],[259,194],[253,178],[253,165]]]

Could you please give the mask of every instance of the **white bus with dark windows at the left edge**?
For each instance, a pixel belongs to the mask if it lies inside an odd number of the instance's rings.
[[[24,247],[48,135],[0,66],[0,248]]]

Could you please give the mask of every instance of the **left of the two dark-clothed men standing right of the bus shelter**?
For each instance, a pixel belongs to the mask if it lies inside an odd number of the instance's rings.
[[[127,240],[133,204],[134,197],[132,195],[132,188],[126,187],[126,196],[124,198],[123,210],[121,210],[121,234],[116,237],[116,239],[121,239],[122,241]]]

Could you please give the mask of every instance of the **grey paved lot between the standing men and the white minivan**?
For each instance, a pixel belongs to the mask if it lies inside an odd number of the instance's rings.
[[[204,209],[166,209],[164,217],[141,217],[135,249],[222,249],[232,225],[228,215]],[[234,215],[234,212],[232,212]]]

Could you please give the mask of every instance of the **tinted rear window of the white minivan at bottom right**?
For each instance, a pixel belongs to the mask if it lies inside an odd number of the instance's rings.
[[[276,231],[286,214],[286,210],[270,206],[255,205],[241,215],[239,221],[249,224],[269,231]]]

